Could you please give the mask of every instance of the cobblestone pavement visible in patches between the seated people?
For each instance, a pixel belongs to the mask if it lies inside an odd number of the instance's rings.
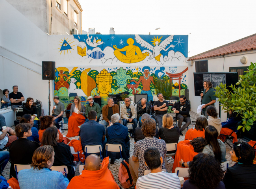
[[[191,121],[195,121],[197,119],[197,117],[199,116],[197,113],[194,113],[192,111],[190,111],[190,116],[191,116]],[[175,116],[174,113],[171,113],[172,116]],[[102,119],[102,116],[101,116],[101,119]],[[100,121],[101,122],[101,121]],[[185,122],[183,122],[183,124],[185,124]],[[192,128],[194,125],[194,123],[191,123],[189,125],[189,129]],[[63,135],[66,135],[67,134],[67,129],[68,129],[68,125],[67,124],[63,124],[63,127],[64,129],[64,133],[62,133]],[[12,127],[14,128],[14,126]],[[132,125],[128,125],[128,130],[132,129]],[[184,137],[185,137],[185,134],[186,134],[187,130],[184,130],[182,133],[183,133],[183,136],[180,136],[180,139],[179,141],[183,141],[184,140]],[[77,137],[70,137],[69,138],[70,140],[72,139],[78,139],[78,136]],[[242,139],[238,139],[238,141],[240,142],[243,142]],[[232,146],[232,142],[228,141],[228,143]],[[228,144],[226,144],[226,159],[229,161],[229,167],[230,166],[233,166],[234,165],[234,162],[230,160],[230,156],[231,154],[229,153],[232,148],[230,148],[230,146]],[[130,139],[130,156],[132,156],[133,154],[133,151],[134,151],[134,139]],[[120,163],[121,163],[122,159],[117,159],[115,161],[115,164],[109,166],[109,169],[111,170],[114,178],[115,178],[115,181],[117,182],[118,185],[121,186],[121,184],[119,183],[119,180],[118,180],[118,172],[119,172],[119,166],[120,166]],[[172,157],[167,157],[167,171],[168,172],[171,172],[172,171],[172,168],[173,168],[173,158]],[[4,177],[9,180],[9,172],[10,172],[10,163],[8,162],[4,171],[3,171],[3,175]],[[79,175],[79,165],[76,167],[76,176]]]

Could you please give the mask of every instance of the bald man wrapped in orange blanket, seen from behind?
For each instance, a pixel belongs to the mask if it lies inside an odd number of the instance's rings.
[[[85,159],[83,169],[81,175],[72,178],[67,189],[120,189],[109,170],[109,157],[104,158],[100,163],[100,158],[91,154]]]

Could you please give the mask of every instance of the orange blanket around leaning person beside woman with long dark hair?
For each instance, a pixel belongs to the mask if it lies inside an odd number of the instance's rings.
[[[181,159],[184,162],[192,161],[194,156],[197,155],[197,152],[194,152],[194,147],[189,144],[189,140],[180,141],[177,145],[177,152],[173,162],[173,173],[175,172],[176,167],[180,166]]]

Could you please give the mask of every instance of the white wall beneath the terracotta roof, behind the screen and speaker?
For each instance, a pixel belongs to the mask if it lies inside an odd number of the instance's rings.
[[[240,62],[241,57],[247,57],[247,63],[242,64]],[[224,58],[216,57],[209,59],[200,59],[208,60],[208,71],[209,72],[229,72],[230,67],[248,67],[250,62],[256,62],[256,50],[250,50],[246,52],[238,52],[235,54],[226,55]],[[195,61],[195,60],[194,60]],[[188,81],[188,89],[189,89],[189,100],[191,101],[191,111],[197,112],[197,107],[201,104],[200,96],[195,96],[194,89],[194,80],[193,73],[195,72],[195,62],[192,66],[188,66],[188,75],[191,80]],[[217,100],[216,100],[217,101]],[[215,103],[215,107],[219,112],[219,102]],[[221,120],[225,121],[227,117],[227,113],[221,111]]]

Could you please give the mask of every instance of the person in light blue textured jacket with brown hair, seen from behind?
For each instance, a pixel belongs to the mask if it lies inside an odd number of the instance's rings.
[[[20,189],[66,189],[69,180],[65,172],[51,171],[54,163],[54,148],[45,145],[33,154],[31,169],[20,170],[18,180]]]

